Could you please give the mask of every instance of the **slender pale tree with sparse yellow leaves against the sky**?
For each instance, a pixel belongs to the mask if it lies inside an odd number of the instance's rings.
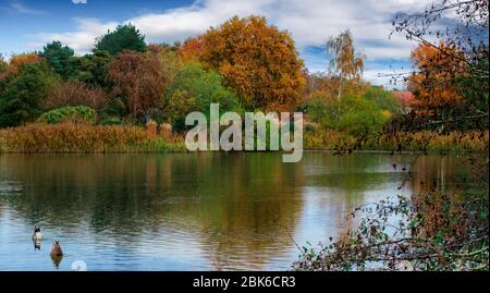
[[[331,56],[329,73],[338,85],[336,97],[340,100],[345,88],[357,88],[362,84],[364,71],[364,56],[354,49],[354,40],[347,29],[327,42],[327,50]],[[348,91],[348,90],[345,90]]]

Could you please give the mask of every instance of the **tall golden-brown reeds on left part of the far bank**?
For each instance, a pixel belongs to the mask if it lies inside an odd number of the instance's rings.
[[[144,127],[30,124],[0,130],[0,152],[132,152],[185,149],[177,139],[150,137]]]

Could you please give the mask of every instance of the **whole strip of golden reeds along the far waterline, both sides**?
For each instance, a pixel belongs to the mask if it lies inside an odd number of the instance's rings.
[[[363,139],[330,130],[305,131],[305,150],[486,151],[488,131],[430,131],[381,134]],[[156,134],[140,126],[30,124],[0,130],[0,154],[186,152],[182,135]]]

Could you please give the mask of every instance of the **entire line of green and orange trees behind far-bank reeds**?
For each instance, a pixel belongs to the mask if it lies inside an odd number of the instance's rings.
[[[52,41],[39,52],[0,59],[0,126],[35,122],[57,108],[85,106],[97,111],[102,124],[156,120],[182,131],[185,114],[206,112],[210,102],[237,112],[303,110],[310,127],[358,136],[393,123],[424,124],[414,118],[454,118],[468,109],[480,117],[487,113],[488,121],[488,85],[473,74],[488,65],[488,47],[478,44],[471,54],[456,45],[421,41],[413,51],[419,71],[406,77],[415,96],[404,105],[390,90],[363,80],[365,56],[355,49],[348,30],[327,42],[326,72],[311,74],[290,34],[265,17],[235,16],[173,45],[147,45],[136,27],[120,25],[97,38],[85,56]],[[487,88],[486,98],[477,88]]]

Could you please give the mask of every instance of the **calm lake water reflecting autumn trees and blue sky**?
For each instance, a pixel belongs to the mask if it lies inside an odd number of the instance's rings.
[[[0,270],[287,270],[357,206],[452,188],[456,157],[305,152],[0,155]],[[405,182],[406,181],[406,182]],[[405,182],[405,183],[404,183]],[[30,240],[40,225],[44,240]],[[59,240],[61,263],[49,256]],[[294,240],[294,241],[293,241]]]

